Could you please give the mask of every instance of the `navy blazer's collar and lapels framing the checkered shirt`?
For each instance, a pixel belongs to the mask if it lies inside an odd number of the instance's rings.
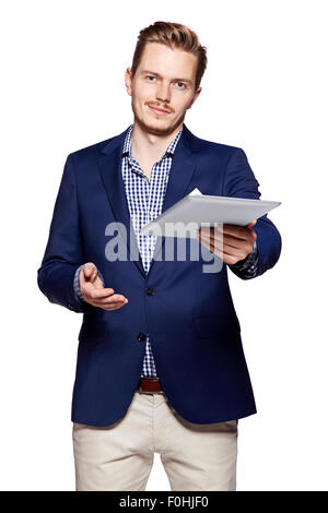
[[[139,253],[139,247],[134,235],[132,222],[130,218],[129,206],[126,198],[125,186],[121,176],[121,154],[125,138],[128,128],[119,135],[110,139],[101,151],[98,160],[101,178],[107,194],[117,223],[125,225],[126,230],[118,231],[127,247],[127,258],[133,260],[134,264],[145,278],[142,260]],[[184,123],[183,133],[174,152],[172,167],[169,170],[166,194],[163,202],[162,213],[173,206],[177,201],[184,198],[188,192],[188,184],[194,175],[200,151],[198,138],[196,138]],[[148,276],[156,261],[154,260],[164,244],[165,237],[157,237],[153,253],[153,260],[150,264]]]

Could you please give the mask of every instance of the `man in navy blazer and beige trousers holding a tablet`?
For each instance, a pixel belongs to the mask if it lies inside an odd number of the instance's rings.
[[[172,490],[236,489],[237,423],[256,406],[226,266],[242,279],[260,276],[279,259],[279,231],[267,216],[202,229],[184,260],[176,239],[174,259],[160,259],[169,238],[139,232],[195,188],[260,196],[243,150],[184,123],[206,65],[190,28],[156,22],[141,31],[126,71],[133,124],[65,166],[38,285],[83,313],[77,490],[144,490],[155,452]],[[195,244],[220,272],[190,258]]]

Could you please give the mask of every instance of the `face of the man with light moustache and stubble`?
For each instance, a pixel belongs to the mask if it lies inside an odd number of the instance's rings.
[[[134,122],[154,135],[174,132],[200,94],[201,87],[195,92],[196,69],[197,58],[192,53],[148,43],[132,80],[130,68],[126,71]],[[162,115],[151,107],[167,114]]]

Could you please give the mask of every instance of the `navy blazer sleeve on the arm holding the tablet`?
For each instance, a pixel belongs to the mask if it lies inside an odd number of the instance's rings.
[[[261,193],[258,190],[259,182],[248,164],[247,156],[242,148],[235,148],[227,162],[224,181],[224,195],[233,198],[246,198],[259,200]],[[257,235],[258,264],[253,277],[260,276],[269,269],[273,267],[281,253],[281,236],[268,218],[268,214],[259,217],[255,226],[251,227]],[[233,265],[231,271],[245,279],[238,269]]]

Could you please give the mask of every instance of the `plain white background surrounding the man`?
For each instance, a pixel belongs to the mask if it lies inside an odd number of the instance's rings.
[[[73,490],[71,392],[82,315],[36,272],[67,155],[132,121],[139,31],[184,23],[208,48],[185,122],[243,147],[283,246],[259,278],[230,272],[258,414],[239,421],[238,490],[327,490],[325,1],[1,3],[1,489]],[[169,490],[156,455],[148,490]]]

